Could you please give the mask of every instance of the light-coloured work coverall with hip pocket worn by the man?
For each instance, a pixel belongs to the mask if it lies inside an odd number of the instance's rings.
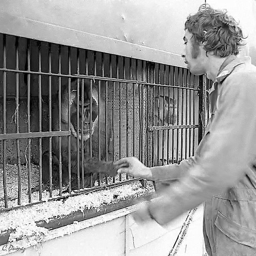
[[[209,256],[256,255],[256,67],[230,56],[209,91],[212,115],[195,156],[152,167],[173,181],[149,204],[161,225],[204,202]]]

